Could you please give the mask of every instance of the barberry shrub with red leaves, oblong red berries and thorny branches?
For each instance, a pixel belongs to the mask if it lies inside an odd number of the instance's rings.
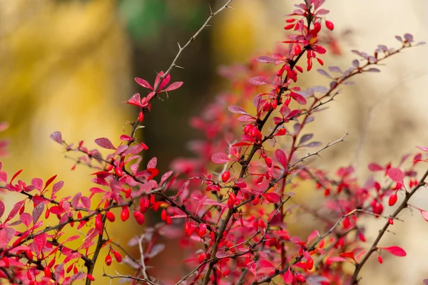
[[[327,50],[320,34],[335,28],[326,18],[329,11],[322,8],[323,0],[296,5],[285,20],[288,36],[275,53],[251,60],[239,72],[223,72],[233,82],[232,88],[191,121],[205,134],[204,140],[190,144],[195,157],[171,162],[172,170],[165,173],[156,168],[156,157],[142,164],[150,146],[136,137],[136,130],[142,128],[148,111],[156,111],[154,99],[165,98],[183,84],[171,83],[170,76],[180,54],[230,2],[211,12],[153,84],[135,79],[145,93],[136,93],[126,102],[138,108],[131,130],[118,140],[95,140],[109,151],[107,156],[89,150],[83,141],[69,144],[61,133],[52,133],[52,140],[66,152],[76,153],[76,165],[93,168],[94,185],[87,193],[61,194],[64,182],[56,176],[23,182],[21,170],[8,175],[0,163],[2,195],[22,195],[10,212],[5,212],[0,200],[2,283],[71,284],[84,279],[91,284],[121,278],[132,284],[359,284],[360,271],[370,257],[382,264],[384,255],[406,256],[399,245],[383,244],[382,237],[403,210],[414,209],[428,220],[428,212],[412,206],[410,200],[425,187],[428,170],[418,175],[416,167],[428,162],[428,147],[418,147],[420,152],[403,157],[399,165],[371,163],[369,170],[378,174],[361,184],[350,166],[332,171],[307,163],[345,140],[347,133],[322,145],[306,129],[350,78],[379,72],[377,66],[387,58],[422,43],[405,34],[396,36],[396,48],[352,51],[357,59],[347,70],[317,69],[330,79],[329,86],[303,88],[300,74],[324,66],[322,56]],[[382,176],[386,182],[381,182]],[[322,231],[299,237],[289,232],[285,219],[296,214],[291,197],[299,195],[299,185],[305,181],[323,192],[325,216],[318,226]],[[385,215],[385,207],[394,207],[394,212]],[[113,209],[120,210],[120,217]],[[144,225],[148,211],[161,217],[154,227]],[[48,226],[50,216],[56,223]],[[384,219],[377,238],[369,244],[362,217]],[[108,234],[109,224],[128,219],[135,219],[143,232],[129,242],[138,247],[136,256]],[[76,234],[69,234],[71,228],[78,229]],[[158,237],[178,238],[188,255],[187,271],[177,279],[151,276],[151,261],[163,250]],[[78,246],[73,246],[73,240],[80,241]],[[94,276],[95,266],[112,263],[131,267],[133,274]]]

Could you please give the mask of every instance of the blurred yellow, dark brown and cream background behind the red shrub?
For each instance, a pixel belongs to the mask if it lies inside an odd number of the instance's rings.
[[[173,81],[185,84],[167,100],[153,104],[141,133],[149,146],[147,158],[158,157],[161,172],[168,170],[174,157],[190,155],[185,144],[199,135],[189,127],[190,117],[227,87],[218,76],[218,66],[272,51],[284,38],[282,15],[297,3],[234,0],[235,9],[220,14],[185,50],[178,61],[185,69],[172,73]],[[126,123],[137,115],[136,108],[121,103],[142,92],[133,78],[153,82],[156,71],[170,65],[177,42],[188,41],[208,17],[208,5],[215,9],[221,4],[217,0],[0,0],[0,122],[9,123],[1,138],[11,141],[10,155],[2,157],[4,170],[24,168],[21,179],[27,181],[57,174],[66,182],[62,191],[67,195],[91,187],[89,178],[82,179],[91,170],[80,166],[70,171],[73,161],[63,158],[49,135],[60,130],[66,142],[85,140],[88,147],[95,147],[93,140],[100,137],[118,144],[119,135],[129,133]],[[323,57],[331,66],[348,68],[355,58],[352,49],[372,53],[377,44],[398,47],[395,35],[412,33],[416,41],[428,40],[426,0],[329,0],[325,8],[335,23],[332,35],[339,51]],[[312,128],[322,130],[316,133],[322,141],[335,140],[346,130],[350,136],[348,142],[327,150],[318,165],[352,164],[365,178],[367,163],[397,163],[402,155],[414,152],[415,145],[428,145],[427,52],[427,46],[408,49],[390,58],[382,73],[360,76],[355,85],[343,88],[330,110],[317,115]],[[312,72],[305,84],[326,81]],[[423,191],[414,205],[428,209]],[[17,197],[2,199],[12,203]],[[428,224],[419,213],[412,217],[409,211],[402,219],[406,222],[394,225],[396,233],[382,242],[401,245],[408,256],[386,259],[375,271],[367,266],[362,284],[422,284],[422,278],[428,277],[424,263]],[[370,222],[367,227],[370,242],[379,224]],[[137,227],[128,229],[123,234],[122,227],[120,236],[118,229],[112,230],[126,242],[138,234],[132,232]],[[167,260],[166,255],[159,260]],[[391,268],[400,270],[391,272]],[[102,270],[98,266],[98,272]]]

